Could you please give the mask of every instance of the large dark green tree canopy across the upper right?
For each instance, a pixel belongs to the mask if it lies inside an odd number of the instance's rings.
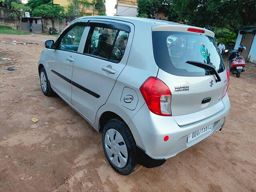
[[[139,15],[155,18],[158,11],[168,20],[206,28],[256,24],[256,0],[138,0]]]

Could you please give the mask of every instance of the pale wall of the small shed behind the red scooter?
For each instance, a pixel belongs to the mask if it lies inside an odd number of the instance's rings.
[[[242,30],[242,31],[245,31],[245,32],[252,32],[253,30],[256,30],[256,28],[252,28],[252,29],[246,29],[246,30]],[[238,47],[240,46],[241,44],[241,41],[242,41],[242,34],[240,34],[240,31],[238,32],[238,36],[236,38],[236,44],[235,44],[235,48],[234,49],[238,49]],[[250,49],[250,52],[248,54],[248,61],[249,62],[253,62],[253,63],[256,63],[256,34],[254,35],[254,39],[252,40],[252,46],[251,48],[249,47],[246,47],[246,49]]]

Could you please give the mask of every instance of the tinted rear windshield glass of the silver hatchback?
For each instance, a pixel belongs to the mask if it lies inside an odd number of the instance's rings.
[[[153,31],[153,50],[156,64],[162,70],[178,76],[214,74],[186,61],[203,62],[218,73],[225,70],[222,57],[213,37],[190,32]]]

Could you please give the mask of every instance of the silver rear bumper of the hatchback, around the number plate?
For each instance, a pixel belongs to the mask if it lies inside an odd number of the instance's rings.
[[[171,158],[223,127],[230,110],[228,94],[220,102],[223,102],[224,107],[218,113],[198,122],[193,122],[193,119],[191,119],[192,123],[184,126],[179,126],[172,116],[153,114],[148,110],[148,106],[144,104],[131,119],[128,126],[132,131],[136,144],[147,156],[155,160]],[[187,117],[189,118],[189,116]],[[210,132],[187,143],[188,134],[210,124],[213,124]],[[164,136],[166,135],[169,136],[169,140],[165,142]]]

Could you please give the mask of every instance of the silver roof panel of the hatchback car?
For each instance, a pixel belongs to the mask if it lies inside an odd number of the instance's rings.
[[[130,22],[134,24],[135,26],[140,26],[140,23],[143,22],[144,24],[148,24],[149,26],[152,26],[152,30],[173,30],[175,29],[176,31],[187,31],[187,28],[192,27],[196,29],[202,29],[205,31],[204,34],[209,35],[214,37],[214,32],[204,29],[204,28],[199,28],[195,26],[189,26],[185,24],[180,24],[180,23],[175,23],[175,22],[170,22],[170,21],[165,21],[165,20],[158,20],[158,19],[148,19],[148,18],[140,18],[140,17],[127,17],[127,16],[85,16],[85,17],[80,17],[79,19],[110,19],[110,20],[119,20],[119,21],[124,21],[124,22]]]

